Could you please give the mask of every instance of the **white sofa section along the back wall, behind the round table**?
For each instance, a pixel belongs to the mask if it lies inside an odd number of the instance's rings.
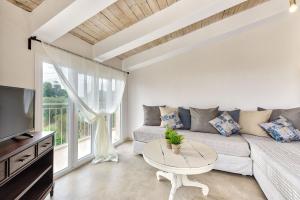
[[[159,126],[142,126],[134,131],[133,150],[136,154],[143,153],[145,143],[164,137],[165,128]],[[218,153],[218,161],[215,169],[252,175],[252,160],[250,148],[247,141],[240,135],[224,137],[219,134],[192,132],[188,130],[177,130],[186,139],[199,141],[214,148]]]

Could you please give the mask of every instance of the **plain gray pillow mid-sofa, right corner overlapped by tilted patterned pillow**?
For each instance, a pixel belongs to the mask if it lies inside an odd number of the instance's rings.
[[[219,107],[209,109],[190,108],[191,131],[218,134],[217,129],[209,123],[210,120],[218,116],[218,108]]]

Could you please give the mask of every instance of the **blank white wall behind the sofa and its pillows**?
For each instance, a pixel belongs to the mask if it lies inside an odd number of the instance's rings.
[[[255,109],[300,106],[300,12],[281,14],[128,80],[128,133],[142,104]]]

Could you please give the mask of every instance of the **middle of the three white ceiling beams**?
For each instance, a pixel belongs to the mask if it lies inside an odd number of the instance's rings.
[[[105,61],[142,46],[246,0],[184,0],[157,12],[94,45],[94,57]]]

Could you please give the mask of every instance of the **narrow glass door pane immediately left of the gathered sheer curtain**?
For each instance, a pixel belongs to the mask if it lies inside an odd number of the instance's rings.
[[[89,124],[78,111],[78,159],[92,153],[92,125]]]

